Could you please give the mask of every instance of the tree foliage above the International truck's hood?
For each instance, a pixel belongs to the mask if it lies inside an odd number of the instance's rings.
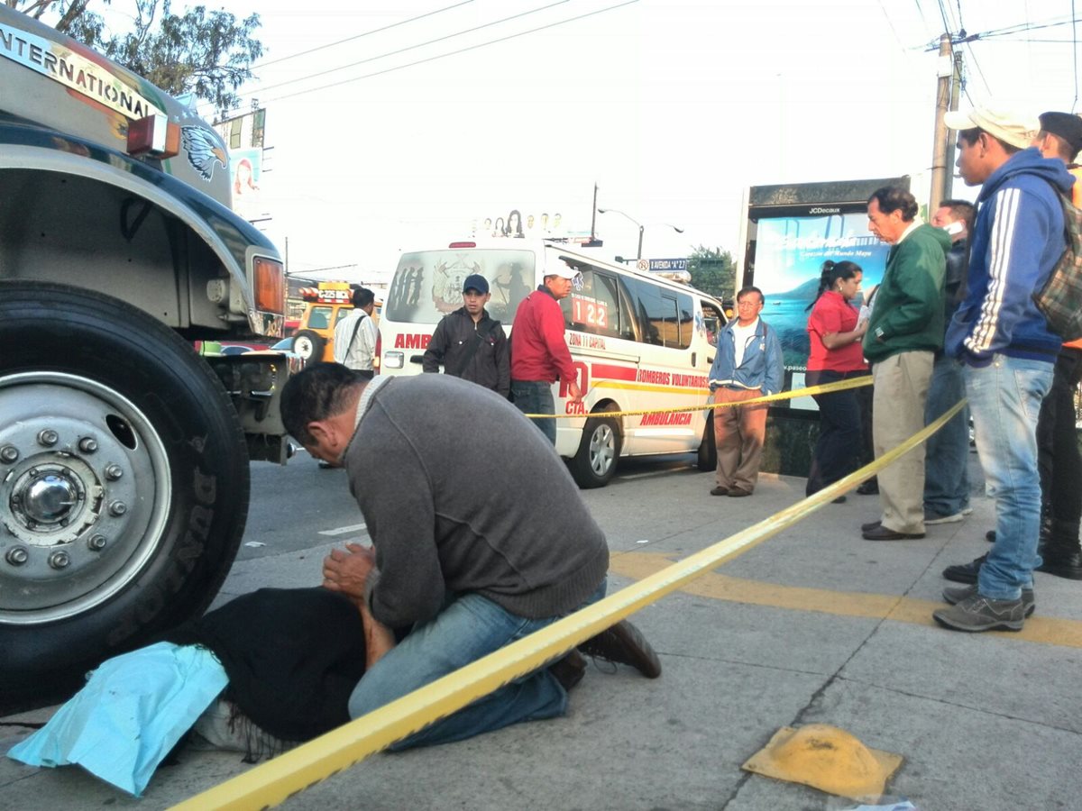
[[[93,0],[4,0],[35,18],[44,17],[58,31],[83,42],[172,95],[192,93],[220,112],[236,107],[235,93],[252,76],[251,64],[263,55],[253,36],[259,14],[238,19],[203,5],[173,14],[170,0],[135,0],[133,29],[111,32]],[[109,5],[109,0],[101,0]],[[55,19],[54,19],[55,18]]]

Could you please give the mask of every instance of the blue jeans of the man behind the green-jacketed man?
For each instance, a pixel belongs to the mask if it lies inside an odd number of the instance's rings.
[[[962,364],[941,355],[932,368],[924,424],[946,413],[965,397]],[[924,511],[954,516],[969,507],[969,408],[963,408],[925,444]]]

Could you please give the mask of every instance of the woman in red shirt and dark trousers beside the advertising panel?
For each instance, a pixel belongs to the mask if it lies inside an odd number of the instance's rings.
[[[868,329],[859,320],[853,300],[860,292],[863,271],[853,262],[822,264],[819,293],[809,305],[808,386],[835,383],[847,377],[868,374],[860,343]],[[806,494],[812,495],[859,467],[860,408],[856,389],[814,395],[819,406],[819,441],[816,442],[808,471]],[[841,495],[834,500],[844,502]]]

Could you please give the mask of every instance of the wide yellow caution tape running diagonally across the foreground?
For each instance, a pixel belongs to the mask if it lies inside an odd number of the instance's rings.
[[[400,741],[503,684],[553,662],[580,642],[806,518],[913,450],[961,411],[965,402],[959,401],[950,411],[898,447],[818,493],[174,808],[182,811],[247,810],[269,808],[283,802],[305,788],[385,749],[395,741]]]

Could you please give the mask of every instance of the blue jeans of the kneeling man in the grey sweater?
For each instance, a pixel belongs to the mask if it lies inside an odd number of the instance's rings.
[[[602,599],[606,583],[603,579],[582,604]],[[371,713],[559,619],[529,620],[479,594],[457,595],[434,619],[418,623],[364,675],[349,696],[349,717]],[[566,710],[567,691],[542,667],[387,748],[398,752],[462,741],[518,721],[555,718]]]

